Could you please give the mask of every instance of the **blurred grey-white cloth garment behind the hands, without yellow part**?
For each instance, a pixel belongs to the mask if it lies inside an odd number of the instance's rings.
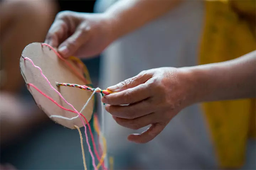
[[[114,1],[98,0],[96,12],[103,12]],[[197,65],[203,17],[203,1],[185,1],[111,44],[102,55],[100,87],[117,84],[142,70]],[[127,141],[127,136],[145,128],[123,128],[109,113],[105,113],[104,128],[115,169],[217,168],[208,128],[197,104],[180,112],[160,135],[143,145]]]

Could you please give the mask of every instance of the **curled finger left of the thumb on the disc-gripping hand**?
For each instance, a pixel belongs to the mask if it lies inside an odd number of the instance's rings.
[[[50,46],[58,47],[61,43],[61,40],[67,38],[67,32],[67,24],[63,20],[57,19],[50,27],[44,42]]]

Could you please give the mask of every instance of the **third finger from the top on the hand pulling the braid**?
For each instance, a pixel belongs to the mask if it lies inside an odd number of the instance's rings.
[[[154,104],[150,100],[144,100],[126,106],[107,105],[105,109],[113,116],[124,119],[135,119],[156,111]]]

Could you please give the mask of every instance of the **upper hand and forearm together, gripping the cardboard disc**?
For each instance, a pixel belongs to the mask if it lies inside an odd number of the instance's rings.
[[[56,47],[63,57],[93,57],[114,40],[164,15],[181,2],[120,0],[104,13],[63,11],[56,16],[45,42]]]

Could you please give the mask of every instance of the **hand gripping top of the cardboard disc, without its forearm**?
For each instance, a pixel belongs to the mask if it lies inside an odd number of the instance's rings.
[[[45,42],[64,57],[92,57],[113,40],[110,19],[104,13],[59,12]]]

